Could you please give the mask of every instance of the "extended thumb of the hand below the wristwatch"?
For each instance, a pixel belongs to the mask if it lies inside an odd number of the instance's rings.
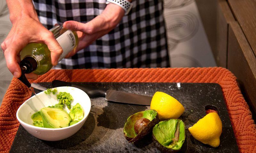
[[[76,21],[66,21],[63,27],[74,31],[83,31],[90,35],[109,28],[105,18],[100,15],[85,24]]]

